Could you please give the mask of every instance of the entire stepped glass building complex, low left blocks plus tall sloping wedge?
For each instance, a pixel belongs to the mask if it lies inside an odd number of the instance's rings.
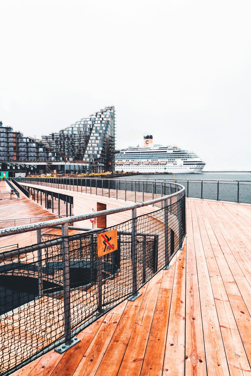
[[[105,107],[38,141],[0,122],[0,176],[113,171],[115,110]],[[6,174],[5,174],[6,176]]]

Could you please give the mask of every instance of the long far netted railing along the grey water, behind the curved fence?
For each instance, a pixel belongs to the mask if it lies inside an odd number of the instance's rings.
[[[14,180],[14,178],[12,178]],[[187,197],[199,199],[210,199],[218,201],[229,201],[237,203],[251,203],[251,181],[250,180],[191,180],[191,179],[96,179],[96,178],[41,178],[41,177],[20,177],[15,178],[19,182],[40,184],[53,188],[63,188],[78,192],[97,194],[102,190],[102,196],[116,197],[117,199],[135,201],[135,193],[142,192],[161,194],[162,188],[168,182],[178,183],[186,188]],[[106,192],[107,191],[107,192]],[[117,193],[117,194],[115,194]],[[134,195],[133,195],[134,193]],[[100,193],[98,193],[100,194]],[[164,190],[163,190],[164,194]]]

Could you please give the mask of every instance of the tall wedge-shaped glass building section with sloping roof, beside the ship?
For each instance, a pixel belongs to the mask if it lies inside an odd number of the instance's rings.
[[[114,106],[100,109],[59,132],[43,135],[42,141],[61,151],[67,161],[84,163],[87,171],[112,171],[115,165]]]

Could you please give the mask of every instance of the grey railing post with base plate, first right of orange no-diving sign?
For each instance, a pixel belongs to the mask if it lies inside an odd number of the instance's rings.
[[[132,296],[128,300],[135,300],[141,294],[137,293],[137,209],[132,209]]]

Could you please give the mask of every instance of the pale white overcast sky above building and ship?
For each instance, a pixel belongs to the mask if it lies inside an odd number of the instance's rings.
[[[251,170],[250,0],[0,0],[0,120],[40,137],[105,106],[117,147]]]

